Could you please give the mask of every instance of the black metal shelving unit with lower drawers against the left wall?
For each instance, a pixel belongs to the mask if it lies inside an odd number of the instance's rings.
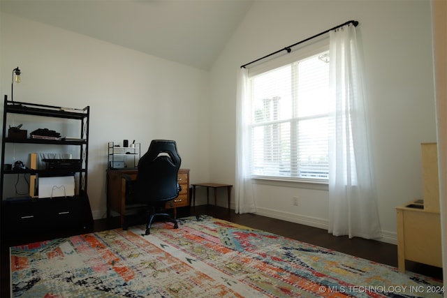
[[[60,119],[73,119],[80,121],[80,137],[71,140],[46,140],[31,137],[9,137],[8,117],[12,114],[30,116],[52,117]],[[0,195],[1,195],[1,232],[3,234],[17,234],[31,231],[43,231],[45,234],[51,230],[80,229],[89,230],[93,225],[91,208],[87,195],[88,174],[88,149],[89,149],[89,106],[83,109],[41,105],[36,103],[24,103],[7,100],[3,105],[3,135],[1,142],[1,169],[0,169]],[[49,148],[54,146],[79,147],[81,167],[76,169],[57,170],[29,170],[6,169],[5,156],[6,144],[43,144]],[[31,153],[31,152],[30,152]],[[3,198],[5,188],[13,187],[5,185],[5,176],[8,174],[63,176],[64,174],[76,174],[79,177],[78,191],[72,197],[61,198],[31,198],[29,196],[10,200]]]

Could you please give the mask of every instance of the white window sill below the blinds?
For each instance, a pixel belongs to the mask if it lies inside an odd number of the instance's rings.
[[[281,186],[281,187],[293,187],[293,188],[307,188],[317,191],[328,191],[328,180],[321,179],[287,179],[280,177],[251,177],[254,184]]]

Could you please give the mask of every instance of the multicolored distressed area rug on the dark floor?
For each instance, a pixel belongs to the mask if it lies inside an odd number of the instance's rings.
[[[441,281],[208,216],[10,248],[13,297],[442,297]]]

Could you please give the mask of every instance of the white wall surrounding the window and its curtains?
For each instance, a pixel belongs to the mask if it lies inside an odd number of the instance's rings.
[[[436,141],[430,1],[256,1],[212,69],[211,177],[234,183],[239,66],[348,20],[360,22],[383,241],[395,242],[395,207],[422,197],[420,143]],[[258,213],[325,228],[328,193],[307,187],[256,184]]]

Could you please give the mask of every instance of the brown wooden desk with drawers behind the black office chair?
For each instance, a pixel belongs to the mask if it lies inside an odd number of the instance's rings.
[[[107,218],[110,211],[116,211],[121,216],[121,225],[124,225],[126,210],[145,207],[145,204],[126,204],[126,180],[124,174],[136,179],[138,170],[107,170]],[[166,209],[174,209],[174,217],[177,217],[177,207],[189,206],[189,170],[180,169],[178,174],[179,185],[182,187],[179,196],[167,202]]]

